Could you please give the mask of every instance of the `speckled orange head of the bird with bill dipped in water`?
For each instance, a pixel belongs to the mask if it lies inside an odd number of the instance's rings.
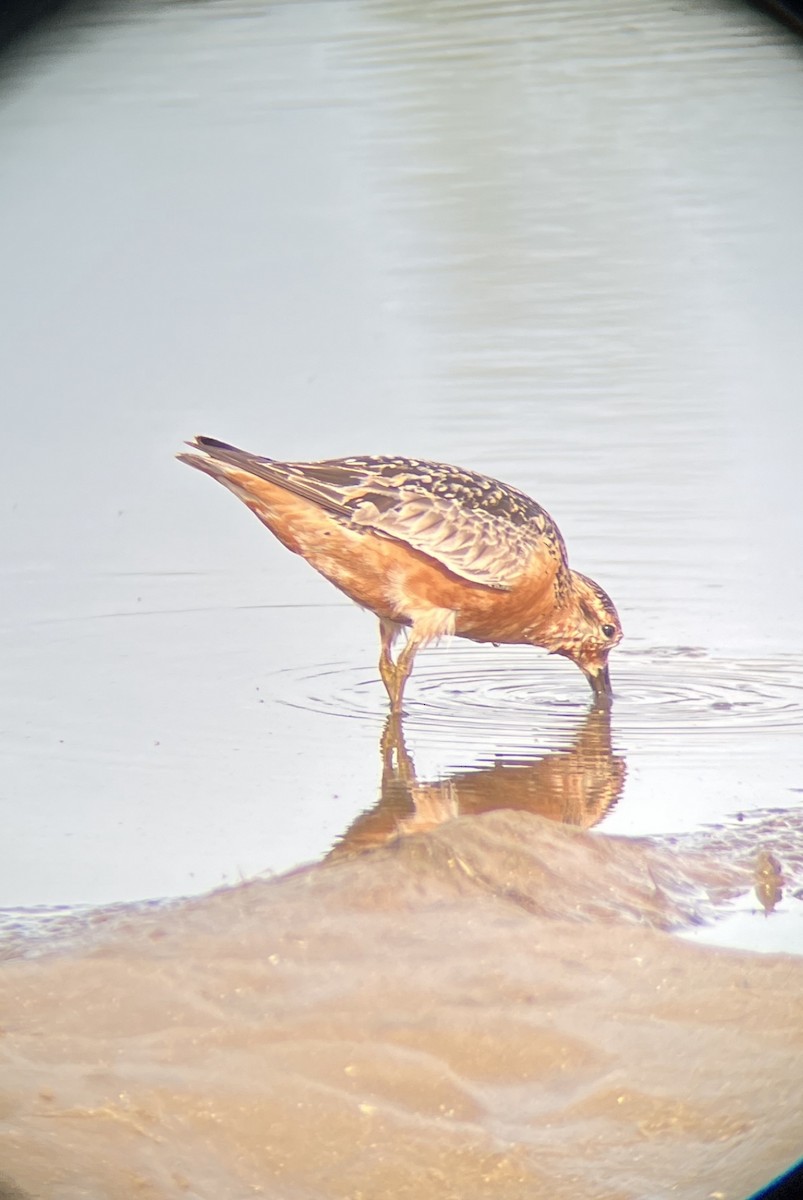
[[[570,575],[570,599],[546,648],[577,664],[597,700],[610,698],[607,656],[622,641],[619,614],[599,583],[579,571]]]

